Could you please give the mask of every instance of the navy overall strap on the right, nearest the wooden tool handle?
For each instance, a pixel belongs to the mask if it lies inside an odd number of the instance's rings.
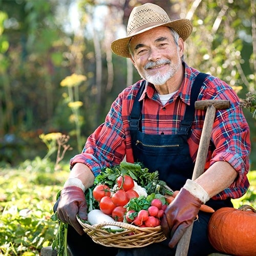
[[[183,120],[181,120],[180,128],[177,134],[189,135],[191,125],[195,115],[195,102],[198,99],[200,89],[207,76],[208,74],[199,73],[195,81],[193,82],[193,85],[191,88],[191,94],[190,94],[190,105],[186,106],[185,115]]]

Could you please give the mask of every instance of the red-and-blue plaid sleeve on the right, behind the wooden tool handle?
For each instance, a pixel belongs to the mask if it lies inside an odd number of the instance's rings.
[[[210,76],[206,84],[205,90],[200,95],[202,100],[221,99],[230,102],[228,109],[216,111],[211,133],[211,144],[215,150],[212,154],[208,153],[206,168],[217,161],[226,161],[238,173],[237,179],[214,199],[239,198],[246,193],[249,187],[246,177],[249,171],[249,126],[240,107],[238,96],[224,81]],[[204,118],[202,111],[197,111],[197,123],[201,127],[202,117]]]

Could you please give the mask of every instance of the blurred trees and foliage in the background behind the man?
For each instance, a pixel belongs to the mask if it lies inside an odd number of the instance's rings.
[[[0,162],[44,156],[39,135],[52,132],[70,136],[74,150],[67,161],[79,153],[78,133],[83,144],[118,93],[140,78],[110,44],[126,34],[132,8],[146,2],[173,19],[193,21],[188,65],[225,80],[242,100],[255,95],[255,0],[0,0]],[[76,92],[79,131],[70,96],[60,86],[71,74],[86,77]],[[244,113],[255,168],[255,97],[249,103]]]

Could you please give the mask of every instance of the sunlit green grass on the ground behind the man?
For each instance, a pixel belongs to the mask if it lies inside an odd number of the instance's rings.
[[[49,160],[35,158],[17,168],[0,167],[0,255],[40,255],[58,229],[51,220],[56,195],[66,181],[69,165],[54,171]],[[256,170],[249,172],[251,186],[234,207],[256,208]]]

